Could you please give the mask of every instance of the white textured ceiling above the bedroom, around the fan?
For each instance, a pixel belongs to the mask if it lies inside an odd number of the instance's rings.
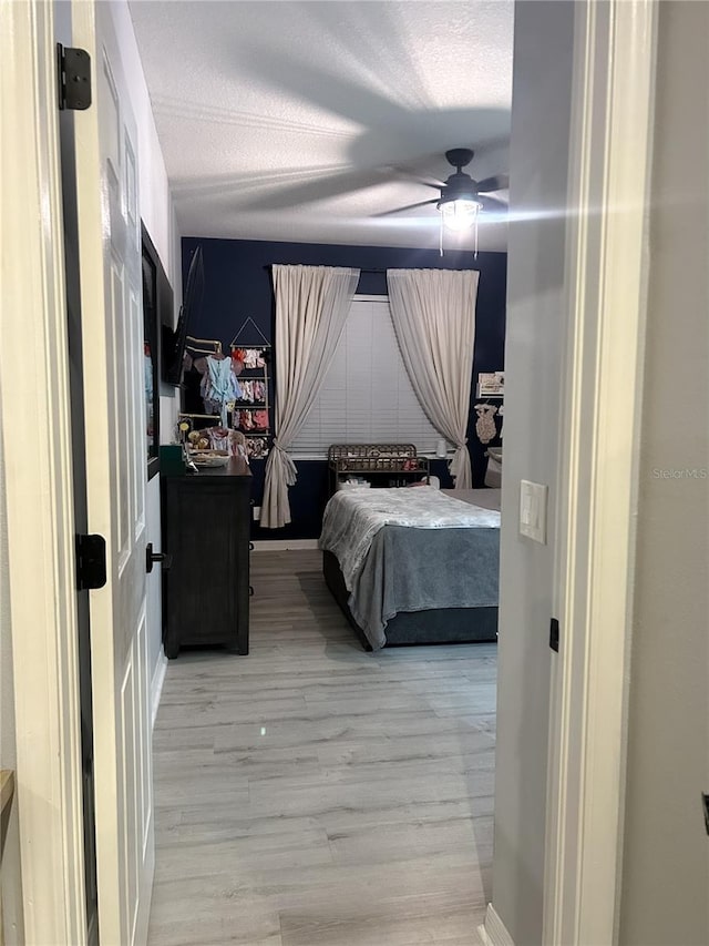
[[[373,216],[436,196],[402,169],[445,179],[444,152],[474,148],[474,179],[508,170],[512,0],[131,0],[131,13],[184,235],[438,246],[434,204]],[[481,248],[505,245],[487,215]]]

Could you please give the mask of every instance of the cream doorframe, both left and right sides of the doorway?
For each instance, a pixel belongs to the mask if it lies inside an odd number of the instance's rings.
[[[657,2],[590,0],[576,17],[544,909],[544,943],[564,946],[617,940]],[[3,140],[13,142],[0,159],[12,181],[0,208],[2,246],[12,250],[2,261],[0,416],[25,933],[83,944],[52,6],[2,3],[0,22],[12,38],[0,110]],[[608,205],[617,212],[589,212]],[[38,357],[7,355],[27,350]],[[7,443],[16,430],[21,454]]]

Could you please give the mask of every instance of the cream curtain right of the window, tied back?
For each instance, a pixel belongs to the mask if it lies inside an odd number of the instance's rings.
[[[455,445],[455,489],[470,489],[467,415],[475,344],[475,269],[388,269],[391,319],[427,417]]]

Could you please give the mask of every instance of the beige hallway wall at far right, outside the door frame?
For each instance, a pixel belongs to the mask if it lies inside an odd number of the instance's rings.
[[[623,946],[709,943],[709,6],[661,3]],[[699,474],[701,477],[702,474]]]

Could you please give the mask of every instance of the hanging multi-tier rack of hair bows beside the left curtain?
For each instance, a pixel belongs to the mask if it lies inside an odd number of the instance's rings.
[[[232,427],[245,436],[250,458],[268,456],[270,435],[269,378],[271,345],[249,316],[229,343],[239,377],[240,396],[229,406]]]

